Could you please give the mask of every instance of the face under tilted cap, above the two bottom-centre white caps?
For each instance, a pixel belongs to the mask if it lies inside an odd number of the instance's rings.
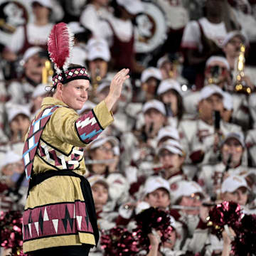
[[[183,157],[178,154],[171,153],[167,149],[163,149],[159,153],[159,160],[164,168],[180,169],[183,164]]]

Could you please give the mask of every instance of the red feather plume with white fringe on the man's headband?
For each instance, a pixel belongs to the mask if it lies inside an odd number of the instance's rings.
[[[48,37],[48,53],[50,60],[55,63],[54,68],[58,74],[67,70],[70,53],[73,46],[74,35],[66,23],[55,24]]]

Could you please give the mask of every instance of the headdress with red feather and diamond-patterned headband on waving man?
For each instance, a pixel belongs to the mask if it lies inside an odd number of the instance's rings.
[[[54,63],[53,87],[58,82],[63,84],[76,79],[90,80],[85,67],[69,67],[71,50],[73,48],[74,35],[67,24],[61,22],[55,24],[48,37],[48,53]]]

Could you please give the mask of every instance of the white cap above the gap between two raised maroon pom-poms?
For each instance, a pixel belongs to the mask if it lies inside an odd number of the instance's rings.
[[[191,196],[200,193],[204,196],[201,186],[195,181],[178,181],[171,183],[171,203],[174,204],[182,196]]]

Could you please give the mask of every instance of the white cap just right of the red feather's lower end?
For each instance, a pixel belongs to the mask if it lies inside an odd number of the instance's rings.
[[[95,60],[100,58],[105,61],[110,61],[110,48],[105,39],[92,38],[87,43],[88,60]]]

